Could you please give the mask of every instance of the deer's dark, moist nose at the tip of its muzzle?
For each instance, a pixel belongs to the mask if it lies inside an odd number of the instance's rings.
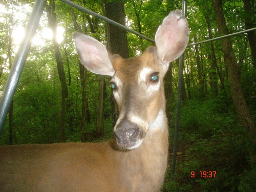
[[[116,127],[115,138],[123,148],[133,147],[141,139],[141,136],[142,130],[140,127],[129,120],[121,121]]]

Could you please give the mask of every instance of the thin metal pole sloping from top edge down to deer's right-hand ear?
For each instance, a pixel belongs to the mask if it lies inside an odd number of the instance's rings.
[[[132,30],[132,29],[130,29],[130,28],[127,28],[127,27],[125,27],[125,26],[123,26],[123,25],[121,25],[121,24],[119,24],[119,23],[117,23],[117,22],[114,22],[114,20],[111,20],[111,19],[109,19],[109,18],[107,18],[107,17],[104,17],[104,16],[102,16],[102,15],[99,15],[98,13],[95,13],[95,12],[89,10],[89,9],[86,9],[86,8],[80,6],[80,5],[77,5],[77,4],[74,3],[74,2],[71,2],[71,1],[69,1],[69,0],[60,0],[60,1],[63,2],[63,3],[66,3],[66,4],[68,4],[68,5],[70,5],[70,6],[72,6],[72,7],[74,7],[74,8],[76,8],[76,9],[80,10],[80,11],[86,12],[86,13],[92,15],[92,16],[95,16],[95,17],[97,17],[97,18],[99,18],[99,19],[102,19],[102,20],[104,20],[105,22],[107,22],[107,23],[109,23],[109,24],[112,24],[112,25],[114,25],[114,26],[117,26],[117,27],[119,27],[119,28],[121,28],[121,29],[123,29],[123,30],[125,30],[125,31],[129,31],[129,32],[131,32],[131,33],[133,33],[133,34],[135,34],[135,35],[137,35],[137,36],[139,36],[139,37],[141,37],[141,38],[143,38],[143,39],[146,39],[146,40],[151,41],[151,42],[155,42],[155,40],[153,40],[153,39],[151,39],[151,38],[148,38],[148,37],[146,37],[146,36],[144,36],[144,35],[142,35],[142,34],[136,32],[136,31],[134,31],[134,30]]]

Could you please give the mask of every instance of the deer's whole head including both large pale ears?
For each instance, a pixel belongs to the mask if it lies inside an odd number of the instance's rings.
[[[120,111],[114,132],[121,148],[133,150],[147,134],[163,131],[166,118],[163,77],[169,62],[185,50],[188,34],[181,12],[170,12],[158,28],[156,47],[129,59],[109,55],[90,36],[73,34],[81,63],[94,73],[112,77],[111,87]]]

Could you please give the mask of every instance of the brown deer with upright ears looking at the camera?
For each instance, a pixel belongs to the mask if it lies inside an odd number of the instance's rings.
[[[124,59],[74,32],[80,62],[111,77],[119,108],[114,136],[102,143],[0,147],[0,191],[160,191],[168,157],[163,78],[185,50],[189,29],[179,10],[163,19],[155,47]]]

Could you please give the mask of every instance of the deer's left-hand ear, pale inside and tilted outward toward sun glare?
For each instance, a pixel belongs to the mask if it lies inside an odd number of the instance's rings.
[[[73,33],[73,39],[75,39],[76,50],[84,67],[96,74],[114,75],[115,71],[109,59],[108,51],[101,42],[77,32]]]

